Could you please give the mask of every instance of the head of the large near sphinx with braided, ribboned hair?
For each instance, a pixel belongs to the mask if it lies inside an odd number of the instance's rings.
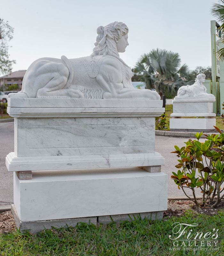
[[[97,28],[96,47],[93,49],[92,57],[96,55],[118,55],[125,52],[128,45],[128,28],[122,22],[112,22],[105,27]]]

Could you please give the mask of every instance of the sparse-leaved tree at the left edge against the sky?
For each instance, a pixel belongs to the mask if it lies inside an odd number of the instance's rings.
[[[15,60],[9,59],[8,42],[13,38],[13,28],[8,21],[0,18],[0,74],[5,75],[12,72],[12,64]]]

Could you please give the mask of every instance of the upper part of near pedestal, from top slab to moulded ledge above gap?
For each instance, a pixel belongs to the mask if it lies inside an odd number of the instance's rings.
[[[61,100],[65,102],[64,107],[61,107]],[[160,100],[133,100],[133,106],[132,100],[95,101],[94,104],[87,99],[12,98],[9,105],[13,107],[8,107],[8,112],[16,117],[15,153],[6,158],[8,170],[164,163],[161,155],[151,155],[155,152],[155,116],[164,112],[164,108],[156,107],[160,106]],[[52,107],[57,103],[60,107]],[[16,104],[20,107],[15,107]],[[73,104],[80,107],[73,107]],[[88,107],[84,108],[85,104]],[[110,107],[106,108],[107,104]],[[134,107],[138,104],[141,107]]]

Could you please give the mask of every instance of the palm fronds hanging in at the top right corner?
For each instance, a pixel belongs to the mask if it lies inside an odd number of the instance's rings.
[[[224,0],[220,0],[219,2],[220,4],[212,5],[212,14],[222,24],[219,27],[219,31],[221,32],[222,43],[224,43]],[[218,54],[220,60],[224,60],[224,48],[221,48]]]

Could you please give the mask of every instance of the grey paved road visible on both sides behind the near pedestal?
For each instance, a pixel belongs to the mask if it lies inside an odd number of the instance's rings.
[[[8,172],[5,166],[5,156],[14,151],[14,123],[0,123],[0,205],[13,202],[13,177],[12,172]],[[174,150],[174,145],[184,146],[186,138],[156,136],[156,152],[159,152],[165,158],[165,165],[162,172],[168,174],[168,196],[185,197],[182,190],[179,190],[170,178],[172,171],[177,171],[174,167],[177,162],[175,154],[170,152]],[[201,141],[204,141],[203,139]],[[197,193],[201,196],[201,193]]]

